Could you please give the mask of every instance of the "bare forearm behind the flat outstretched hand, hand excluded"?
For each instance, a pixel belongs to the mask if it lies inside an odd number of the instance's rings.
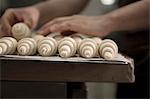
[[[148,29],[150,1],[142,0],[106,14],[110,21],[109,32]]]

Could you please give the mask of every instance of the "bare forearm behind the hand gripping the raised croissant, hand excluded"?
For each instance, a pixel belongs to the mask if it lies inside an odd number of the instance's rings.
[[[79,13],[88,0],[47,0],[34,5],[40,11],[40,22],[45,23],[55,17]]]

